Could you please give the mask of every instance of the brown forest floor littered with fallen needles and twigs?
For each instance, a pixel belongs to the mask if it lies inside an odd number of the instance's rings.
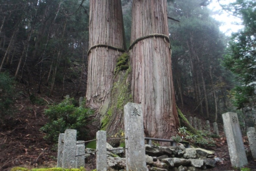
[[[55,91],[55,96],[48,97],[43,94],[36,95],[43,99],[45,102],[52,104],[61,100],[62,94],[61,85],[58,88],[59,92]],[[68,87],[69,86],[69,87]],[[85,86],[85,83],[83,83]],[[36,88],[36,85],[35,85]],[[17,92],[25,91],[23,85],[16,87]],[[83,89],[83,88],[81,88]],[[65,88],[65,95],[75,92],[74,85],[67,84]],[[49,89],[45,86],[42,88],[42,92],[49,92]],[[84,96],[85,90],[76,96]],[[188,113],[193,108],[193,105],[186,100],[184,104],[186,108],[181,111],[189,116]],[[39,131],[40,127],[47,122],[47,118],[43,114],[46,105],[35,105],[29,100],[27,93],[21,93],[17,98],[14,106],[15,114],[9,116],[7,122],[0,127],[0,171],[7,171],[14,166],[25,166],[29,168],[34,167],[55,167],[57,162],[57,146],[51,142],[47,142],[43,139],[43,134]],[[204,122],[204,118],[203,119]],[[205,122],[204,122],[205,123]],[[220,138],[215,138],[216,146],[208,147],[205,149],[214,150],[215,156],[224,158],[223,162],[217,163],[217,166],[210,170],[231,170],[230,157],[227,148],[227,141],[223,133],[223,127],[219,125]],[[243,136],[244,145],[246,149],[249,148],[248,140],[246,136]],[[256,161],[252,157],[248,157],[248,168],[256,170]],[[89,164],[86,166],[87,170],[94,169],[95,159],[91,158]]]

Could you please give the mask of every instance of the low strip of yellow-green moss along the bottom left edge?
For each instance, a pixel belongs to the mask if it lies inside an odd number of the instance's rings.
[[[86,170],[84,167],[72,168],[72,169],[65,169],[65,168],[60,168],[60,167],[34,168],[34,169],[28,169],[25,167],[13,167],[10,171],[86,171]]]

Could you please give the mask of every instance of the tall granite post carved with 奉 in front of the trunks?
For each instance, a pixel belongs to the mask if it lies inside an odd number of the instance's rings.
[[[126,170],[145,171],[145,138],[143,127],[142,106],[136,103],[127,103],[124,106],[124,130]]]

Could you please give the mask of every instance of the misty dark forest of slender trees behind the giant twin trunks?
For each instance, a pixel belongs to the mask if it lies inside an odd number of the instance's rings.
[[[168,16],[179,20],[168,23],[177,106],[185,115],[220,123],[222,113],[236,112],[242,128],[255,126],[256,4],[237,0],[222,6],[244,25],[228,37],[211,17],[209,3],[168,1]],[[131,0],[122,0],[122,13],[128,47]],[[1,0],[0,14],[0,128],[6,132],[21,122],[26,106],[19,101],[41,106],[26,108],[38,118],[67,94],[85,96],[89,1]]]

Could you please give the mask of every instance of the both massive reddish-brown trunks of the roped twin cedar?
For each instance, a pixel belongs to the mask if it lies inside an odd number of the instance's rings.
[[[131,42],[150,34],[169,35],[166,0],[133,1]],[[122,7],[120,0],[91,0],[89,47],[103,44],[124,49]],[[163,37],[149,37],[138,41],[130,49],[131,85],[134,103],[142,104],[146,136],[170,138],[179,126],[171,73],[169,42]],[[95,133],[102,119],[109,115],[114,69],[122,53],[99,46],[88,55],[87,104],[96,109]],[[125,105],[125,104],[123,104]],[[122,118],[123,113],[119,114]],[[116,117],[113,116],[113,117]],[[118,119],[118,117],[117,117]],[[122,122],[115,119],[115,122]],[[109,124],[106,130],[118,130]],[[91,135],[91,134],[90,134]]]

